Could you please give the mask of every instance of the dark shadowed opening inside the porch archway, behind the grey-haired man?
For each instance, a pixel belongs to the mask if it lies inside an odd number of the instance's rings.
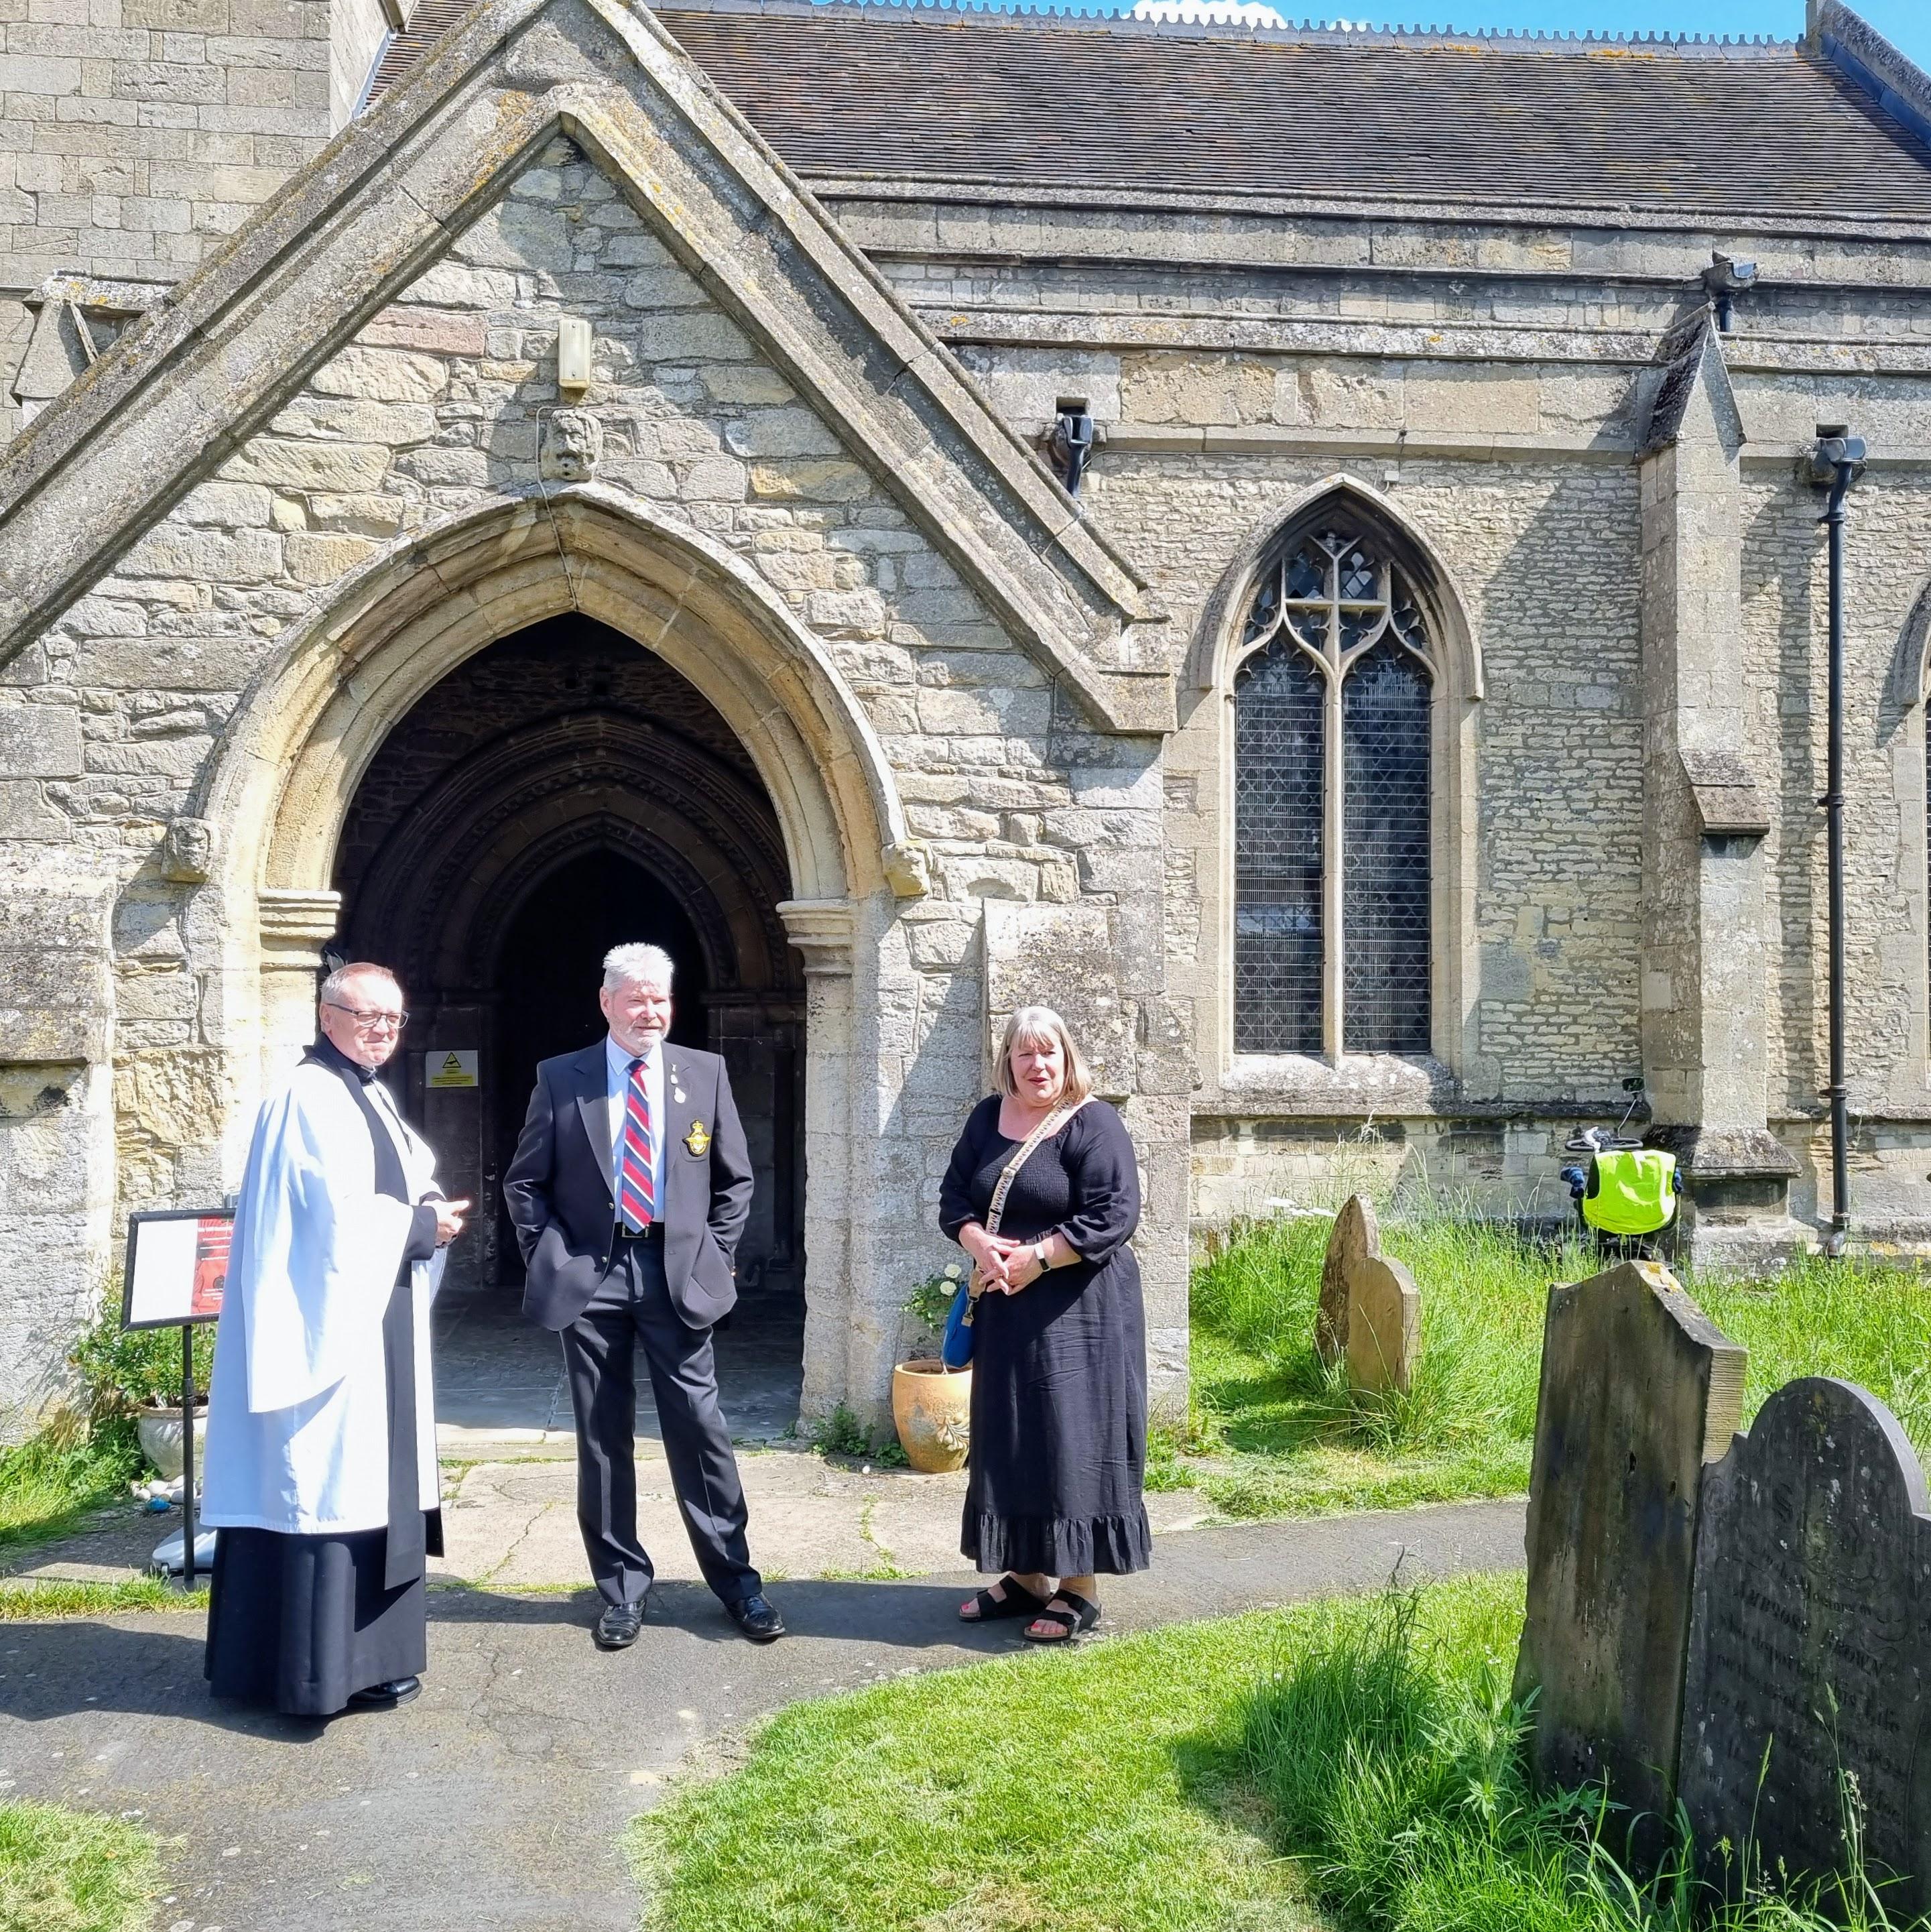
[[[716,709],[651,651],[570,612],[467,657],[390,728],[342,821],[330,951],[404,981],[400,1086],[446,1186],[477,1202],[438,1302],[454,1428],[560,1428],[552,1337],[521,1321],[502,1173],[539,1059],[602,1036],[602,954],[678,964],[672,1039],[720,1053],[757,1177],[742,1312],[720,1337],[734,1428],[798,1414],[803,976],[778,914],[776,810]]]

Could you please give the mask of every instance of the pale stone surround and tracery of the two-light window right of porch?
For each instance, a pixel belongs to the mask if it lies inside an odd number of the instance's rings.
[[[1218,757],[1220,798],[1220,866],[1218,866],[1218,962],[1220,987],[1217,1018],[1220,1032],[1218,1063],[1222,1076],[1240,1086],[1309,1090],[1321,1080],[1313,1063],[1338,1066],[1361,1053],[1379,1057],[1379,1049],[1357,1047],[1344,1039],[1340,949],[1325,943],[1321,968],[1319,1039],[1280,1055],[1240,1043],[1236,1014],[1236,956],[1240,920],[1238,827],[1240,827],[1240,723],[1238,690],[1244,667],[1255,663],[1251,618],[1265,585],[1292,564],[1290,553],[1307,543],[1321,549],[1321,537],[1334,535],[1365,549],[1375,587],[1363,589],[1367,603],[1386,603],[1375,639],[1365,639],[1365,651],[1334,645],[1334,663],[1323,672],[1327,697],[1323,715],[1334,717],[1323,726],[1332,738],[1325,755],[1317,792],[1311,802],[1323,821],[1323,931],[1340,927],[1334,916],[1342,896],[1336,854],[1342,842],[1344,819],[1352,792],[1336,792],[1338,740],[1342,734],[1344,678],[1357,668],[1357,659],[1373,661],[1377,653],[1394,651],[1402,661],[1421,668],[1425,705],[1425,813],[1427,813],[1427,1014],[1425,1041],[1404,1041],[1396,1055],[1415,1068],[1425,1088],[1442,1092],[1456,1082],[1466,1084],[1475,1072],[1477,1051],[1475,1010],[1479,997],[1479,949],[1475,941],[1475,833],[1477,833],[1477,746],[1475,707],[1483,696],[1483,665],[1468,607],[1437,547],[1413,520],[1381,491],[1348,475],[1330,475],[1273,514],[1249,533],[1232,564],[1220,578],[1220,587],[1209,601],[1205,620],[1195,636],[1191,680],[1218,697],[1218,728],[1215,734]],[[1323,553],[1325,554],[1325,553]],[[1344,570],[1336,553],[1334,570]],[[1315,591],[1317,601],[1332,585]],[[1408,636],[1394,620],[1394,607],[1412,603]],[[1365,611],[1365,607],[1363,607]],[[1276,612],[1278,616],[1278,612]],[[1346,620],[1340,620],[1346,626]],[[1385,636],[1383,636],[1385,632]],[[1296,661],[1307,657],[1296,651]],[[1317,680],[1323,682],[1323,680]],[[1327,740],[1325,740],[1327,742]],[[1247,1028],[1251,1034],[1251,1026]],[[1348,1028],[1352,1034],[1352,1028]],[[1398,1076],[1402,1078],[1402,1076]]]

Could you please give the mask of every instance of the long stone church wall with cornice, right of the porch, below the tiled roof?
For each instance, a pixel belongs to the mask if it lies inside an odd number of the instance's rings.
[[[1537,1211],[1574,1119],[1601,1117],[1641,1065],[1634,460],[1653,348],[1684,313],[1705,238],[1668,224],[1605,238],[1556,224],[1151,214],[1110,216],[1101,234],[1068,209],[1047,263],[1012,259],[1018,207],[852,195],[848,222],[890,245],[908,299],[1021,433],[1041,431],[1058,398],[1087,400],[1105,439],[1087,498],[1149,570],[1172,616],[1172,661],[1195,672],[1164,781],[1166,945],[1174,993],[1191,991],[1199,1012],[1195,1217],[1325,1198],[1361,1159],[1390,1184],[1427,1179]],[[1147,259],[1122,267],[1118,230],[1135,220]],[[1825,670],[1821,497],[1798,481],[1796,458],[1821,421],[1850,421],[1879,454],[1850,539],[1852,1061],[1861,1208],[1904,1231],[1931,1215],[1931,989],[1923,711],[1904,715],[1892,684],[1931,568],[1931,323],[1887,286],[1900,251],[1879,261],[1863,242],[1780,234],[1719,245],[1763,269],[1728,344],[1749,439],[1751,723],[1738,750],[1778,802],[1765,854],[1782,925],[1767,989],[1780,1014],[1771,1111],[1807,1169],[1800,1211],[1813,1208],[1819,1159]],[[1921,261],[1921,243],[1902,257]],[[1485,272],[1458,282],[1456,263]],[[1591,280],[1595,269],[1614,280]],[[1863,284],[1856,303],[1838,278]],[[1269,354],[1271,338],[1294,354]],[[1406,354],[1390,355],[1396,346]],[[1220,616],[1213,593],[1234,560],[1334,473],[1383,493],[1423,537],[1485,661],[1468,827],[1475,970],[1462,976],[1475,1024],[1444,1043],[1462,1049],[1456,1082],[1398,1065],[1336,1078],[1313,1063],[1236,1063],[1220,1037],[1230,794],[1220,701],[1199,690],[1213,657],[1203,626]],[[1500,1111],[1506,1122],[1491,1117]]]

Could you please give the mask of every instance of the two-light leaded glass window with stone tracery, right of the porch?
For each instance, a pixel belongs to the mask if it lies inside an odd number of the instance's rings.
[[[1234,1051],[1429,1051],[1435,651],[1354,522],[1261,574],[1234,672]]]

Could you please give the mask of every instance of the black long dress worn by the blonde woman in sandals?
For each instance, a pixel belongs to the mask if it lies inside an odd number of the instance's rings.
[[[938,1194],[958,1240],[985,1221],[1018,1142],[998,1095],[971,1111]],[[971,1474],[960,1548],[981,1571],[1116,1577],[1153,1561],[1147,1466],[1147,1318],[1139,1167],[1120,1117],[1093,1099],[1014,1177],[1000,1235],[1058,1233],[1081,1256],[1018,1294],[981,1294],[973,1318]]]

